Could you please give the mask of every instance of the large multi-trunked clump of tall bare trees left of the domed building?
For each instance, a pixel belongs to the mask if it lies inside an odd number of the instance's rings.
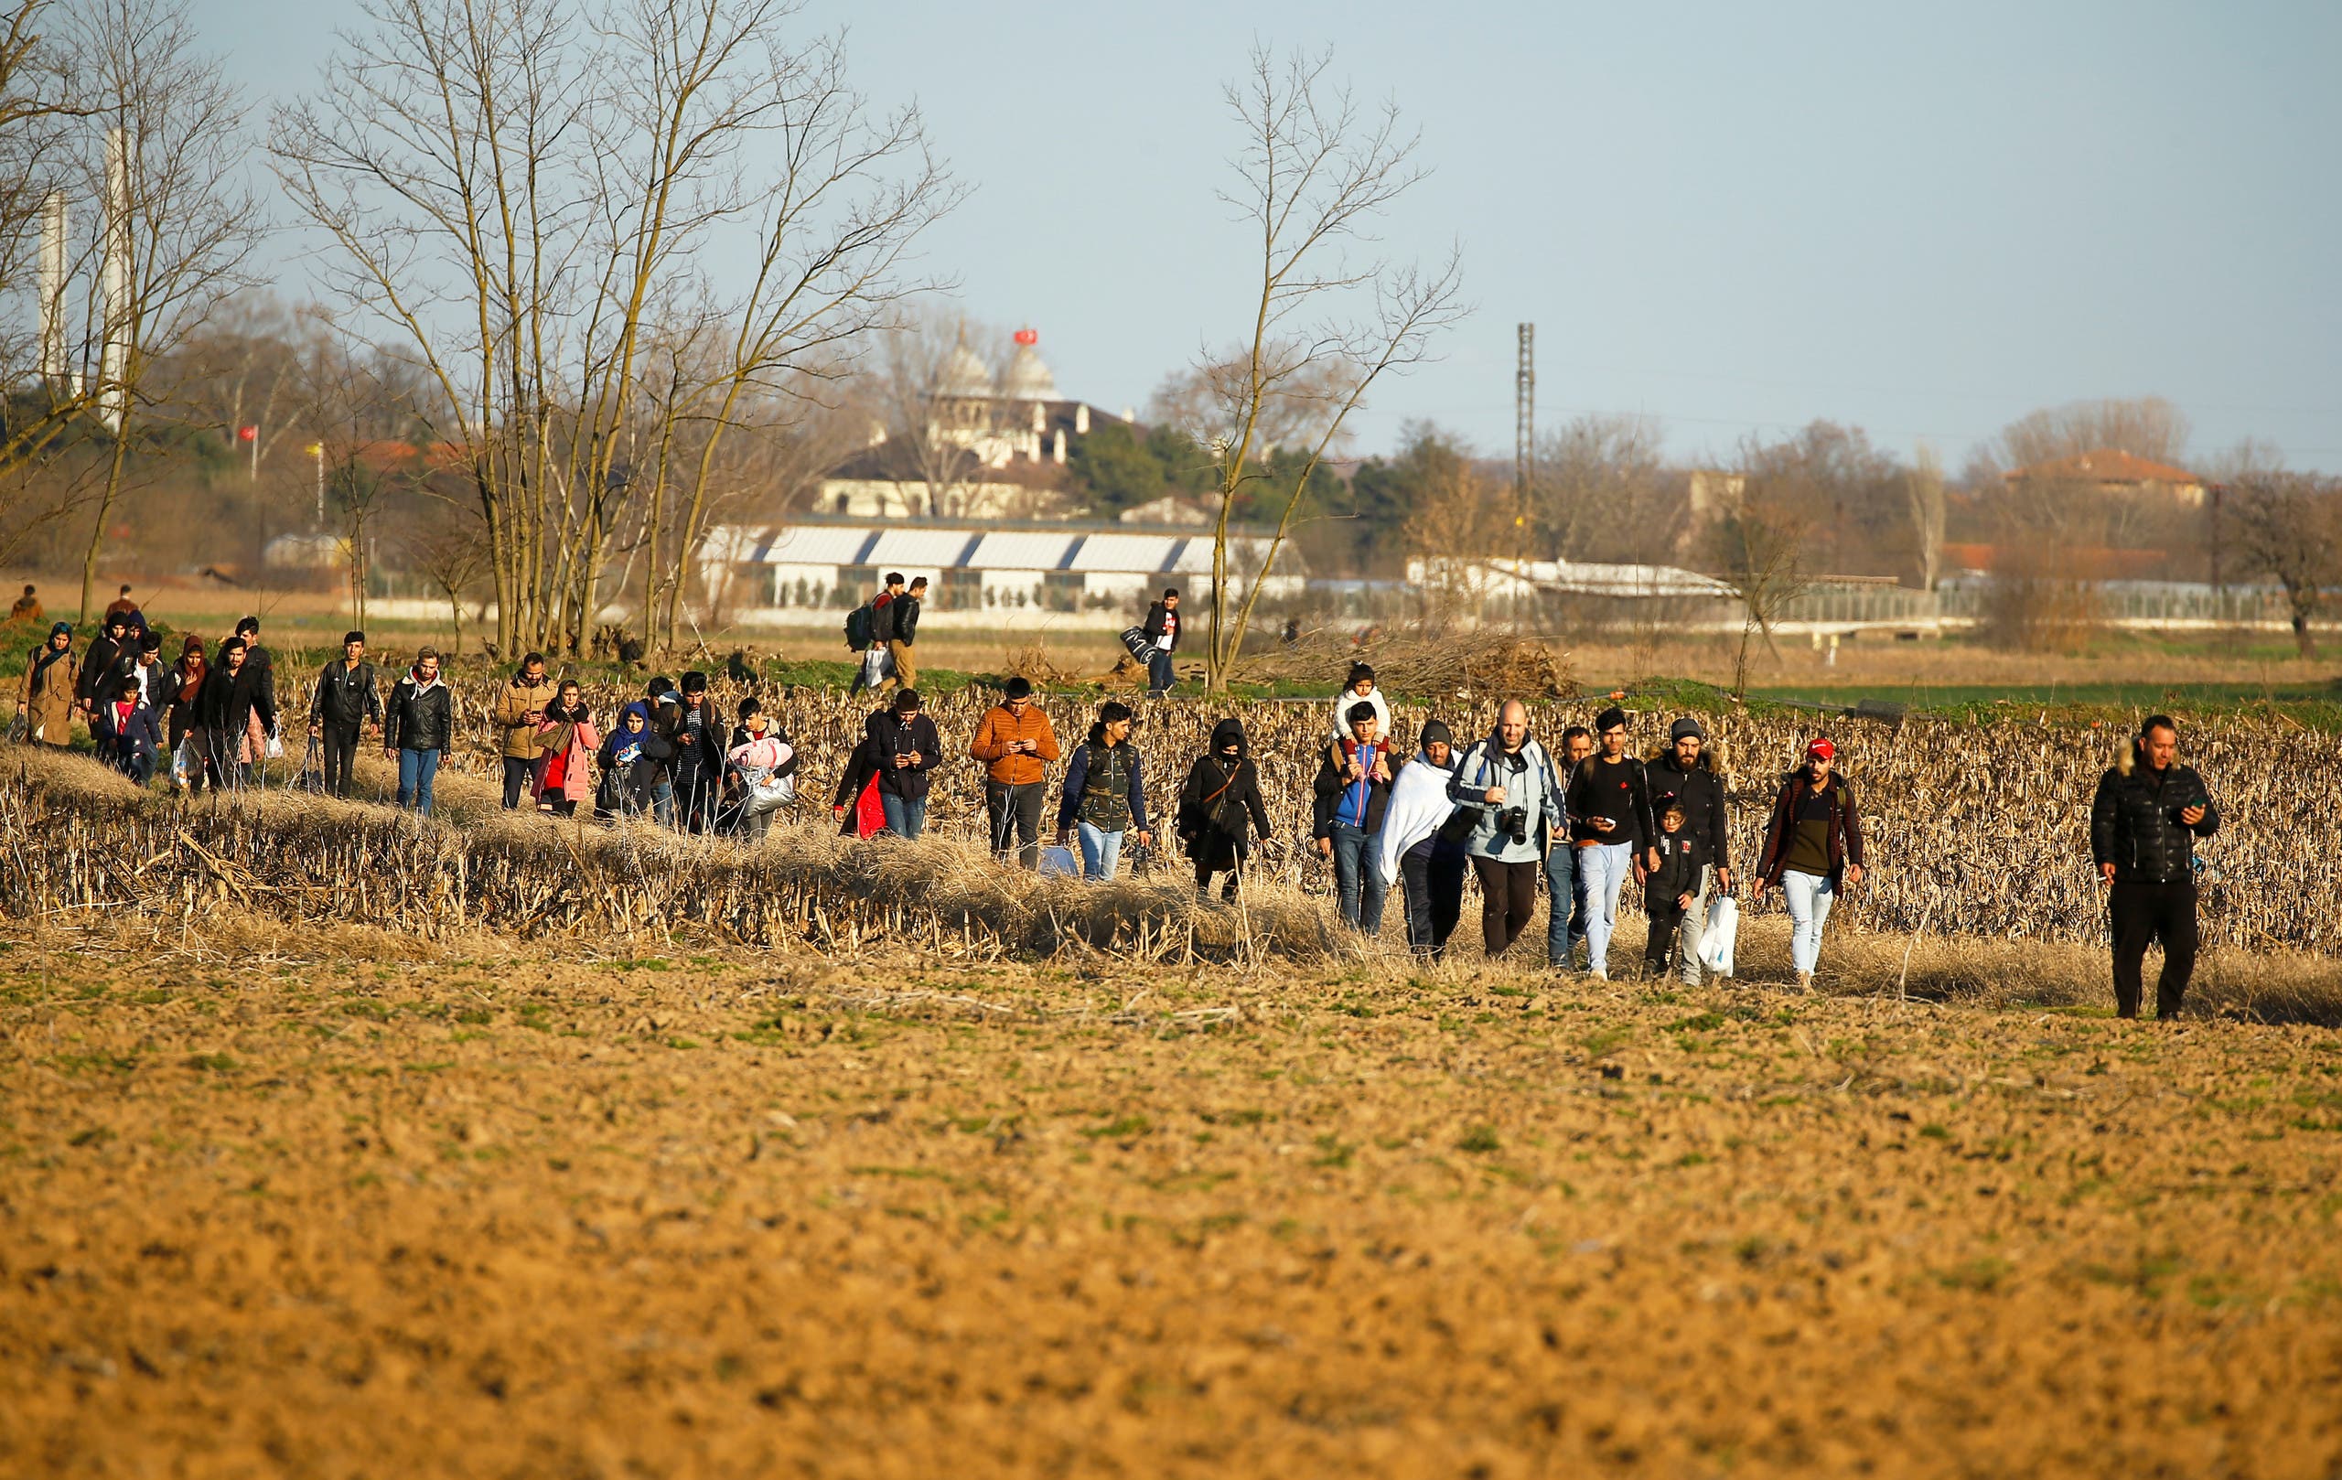
[[[918,115],[874,117],[838,42],[792,33],[796,12],[370,0],[323,91],[276,115],[286,190],[461,452],[508,646],[578,646],[614,541],[642,529],[625,511],[658,422],[705,417],[712,473],[742,396],[852,358],[953,199]],[[742,255],[745,283],[717,269]],[[658,368],[663,311],[700,326],[665,326],[672,342],[728,326],[696,391],[679,356]],[[646,386],[665,386],[651,407]],[[679,492],[677,557],[705,492],[698,475]]]

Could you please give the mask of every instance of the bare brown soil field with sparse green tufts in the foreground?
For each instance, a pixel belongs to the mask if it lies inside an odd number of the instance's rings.
[[[0,944],[0,1473],[2342,1466],[2323,1028]]]

